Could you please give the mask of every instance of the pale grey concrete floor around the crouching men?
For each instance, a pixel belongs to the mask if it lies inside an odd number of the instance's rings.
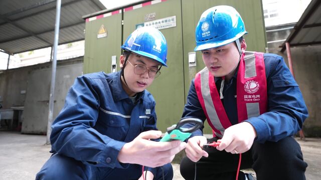
[[[306,179],[321,177],[321,138],[298,140],[303,158],[308,163]],[[45,135],[27,135],[13,131],[0,131],[0,179],[35,179],[45,161],[50,157],[50,145]],[[174,179],[183,179],[179,164],[173,164]]]

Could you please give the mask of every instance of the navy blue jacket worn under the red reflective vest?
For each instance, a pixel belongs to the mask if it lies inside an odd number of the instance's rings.
[[[291,72],[284,63],[283,57],[264,53],[265,74],[267,82],[268,110],[258,117],[251,117],[245,121],[251,123],[256,132],[258,142],[278,141],[293,135],[302,128],[307,117],[307,109],[301,91]],[[223,87],[222,99],[225,111],[232,124],[238,123],[236,104],[237,72]],[[215,83],[220,90],[221,77],[215,77]],[[197,97],[194,79],[190,86],[183,117],[197,117],[206,119],[202,106]],[[186,125],[185,127],[191,126]],[[192,136],[202,135],[202,129],[193,132]]]

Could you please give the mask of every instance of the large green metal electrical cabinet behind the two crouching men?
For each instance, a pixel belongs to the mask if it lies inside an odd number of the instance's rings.
[[[118,71],[120,46],[127,36],[141,25],[161,27],[168,43],[168,67],[162,67],[161,75],[147,90],[156,101],[157,127],[165,132],[181,118],[191,80],[205,67],[200,52],[194,65],[189,63],[189,57],[193,57],[189,53],[194,51],[195,27],[202,12],[215,5],[235,7],[249,32],[245,35],[247,50],[265,51],[261,0],[144,0],[87,18],[84,73],[111,72],[115,56]],[[102,25],[107,34],[102,33]],[[204,133],[212,133],[209,125],[205,126]]]

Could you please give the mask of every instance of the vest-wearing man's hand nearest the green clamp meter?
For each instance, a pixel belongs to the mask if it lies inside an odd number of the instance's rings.
[[[208,157],[209,154],[202,149],[206,143],[207,139],[205,136],[198,135],[189,138],[185,149],[187,157],[194,162],[199,161],[202,156]]]

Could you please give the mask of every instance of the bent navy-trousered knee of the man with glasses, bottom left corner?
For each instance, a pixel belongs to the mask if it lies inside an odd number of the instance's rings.
[[[73,158],[55,154],[51,156],[36,179],[86,179],[85,165]]]

